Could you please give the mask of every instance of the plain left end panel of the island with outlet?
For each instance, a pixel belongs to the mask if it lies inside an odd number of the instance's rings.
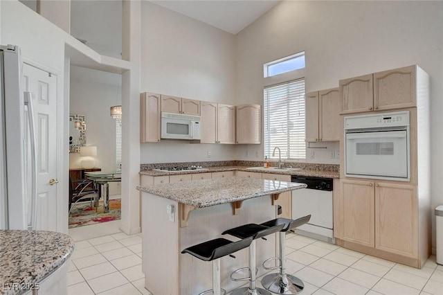
[[[174,222],[166,212],[168,205],[174,206]],[[142,195],[142,271],[152,294],[179,295],[178,207],[170,199]]]

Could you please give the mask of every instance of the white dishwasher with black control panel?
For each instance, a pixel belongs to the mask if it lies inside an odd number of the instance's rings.
[[[292,191],[292,218],[311,215],[311,220],[296,229],[299,235],[335,244],[332,207],[332,178],[292,175],[292,182],[307,188]]]

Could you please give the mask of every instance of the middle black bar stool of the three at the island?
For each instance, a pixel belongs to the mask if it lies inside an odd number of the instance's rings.
[[[234,229],[228,229],[221,233],[222,235],[233,235],[236,238],[244,239],[248,237],[252,237],[253,241],[249,246],[249,267],[244,267],[242,269],[237,269],[234,271],[230,278],[233,280],[249,280],[249,287],[242,287],[239,289],[235,289],[231,295],[243,295],[243,294],[251,294],[251,295],[271,295],[268,291],[262,288],[255,287],[255,279],[257,275],[257,269],[255,267],[255,240],[258,238],[263,238],[265,235],[271,235],[271,233],[276,233],[281,231],[284,227],[284,224],[276,224],[275,226],[262,226],[260,224],[245,224],[242,226],[235,227]],[[233,274],[237,272],[248,269],[249,277],[248,278],[233,278]]]

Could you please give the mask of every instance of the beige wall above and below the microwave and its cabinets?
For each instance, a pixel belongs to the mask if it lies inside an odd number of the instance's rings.
[[[148,1],[141,4],[141,92],[234,104],[235,37]],[[232,145],[141,144],[141,163],[234,157]]]

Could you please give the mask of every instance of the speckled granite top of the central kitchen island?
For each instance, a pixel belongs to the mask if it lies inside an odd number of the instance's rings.
[[[182,204],[204,208],[306,187],[306,184],[286,181],[227,177],[157,184],[155,186],[137,186],[137,189]]]

